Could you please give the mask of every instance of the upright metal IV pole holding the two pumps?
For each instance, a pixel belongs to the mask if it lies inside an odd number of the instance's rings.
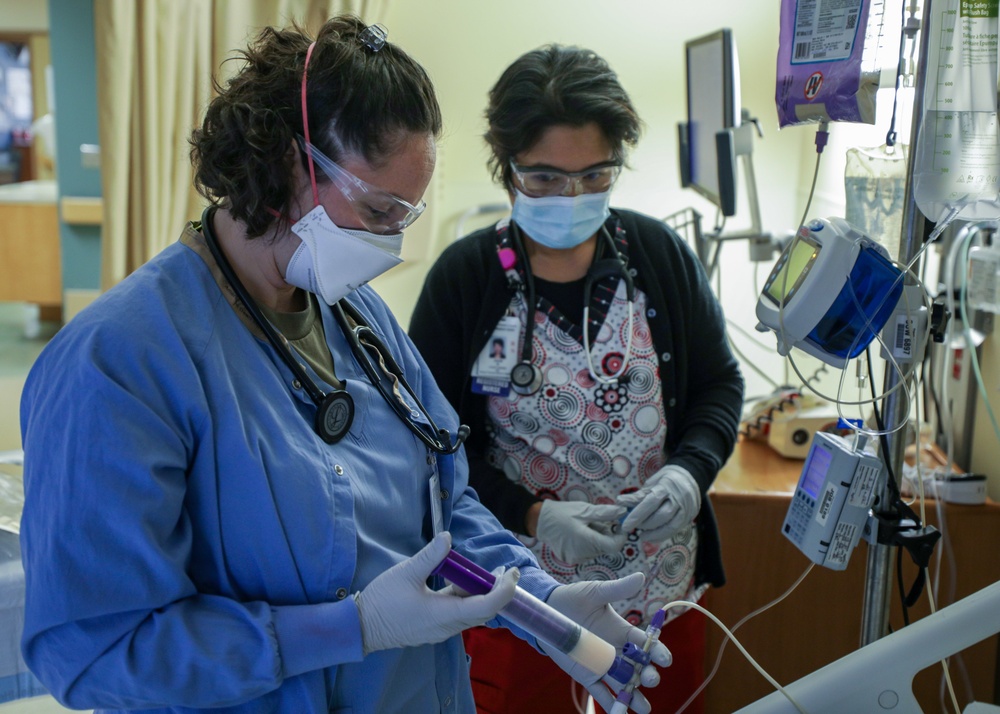
[[[932,0],[923,0],[921,8],[920,48],[917,55],[917,66],[914,69],[913,118],[910,124],[910,144],[915,146],[923,123],[924,87],[927,82],[927,51],[930,45],[927,28],[930,24],[930,9]],[[905,32],[905,28],[904,28]],[[906,167],[906,188],[903,196],[903,227],[899,242],[899,262],[908,265],[921,248],[924,233],[924,217],[917,208],[913,193],[914,153],[911,149],[910,160]],[[905,284],[915,281],[907,274]],[[922,358],[922,356],[921,356]],[[885,424],[898,424],[907,413],[908,395],[899,386],[902,376],[899,370],[887,368],[884,377],[884,393],[888,395],[882,400],[882,414]],[[884,455],[891,466],[891,473],[903,473],[903,454],[906,449],[906,430],[899,429],[888,437],[889,453]],[[889,502],[888,483],[879,484],[879,503]],[[875,543],[868,548],[868,570],[865,579],[864,605],[861,620],[861,644],[867,645],[888,634],[889,631],[889,596],[892,593],[892,556],[896,546]]]

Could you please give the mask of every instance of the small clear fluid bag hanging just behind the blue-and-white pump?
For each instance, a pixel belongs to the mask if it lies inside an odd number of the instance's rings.
[[[899,257],[906,196],[908,147],[878,146],[847,150],[844,191],[845,218],[869,238],[885,246],[889,257]]]

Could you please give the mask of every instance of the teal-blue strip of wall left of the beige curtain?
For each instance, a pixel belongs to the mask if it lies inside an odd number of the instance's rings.
[[[101,172],[80,163],[80,144],[99,143],[97,54],[92,0],[49,0],[49,41],[56,99],[59,195],[98,197]],[[59,223],[63,289],[101,286],[101,228]]]

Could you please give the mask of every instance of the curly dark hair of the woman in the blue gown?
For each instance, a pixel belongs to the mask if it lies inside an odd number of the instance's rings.
[[[334,161],[386,159],[406,133],[441,133],[441,109],[424,69],[396,45],[375,52],[359,39],[357,17],[328,20],[309,58],[307,109],[312,143]],[[302,72],[312,38],[297,25],[265,28],[236,58],[242,66],[209,104],[191,136],[198,192],[224,204],[250,238],[288,215],[293,154],[302,128]],[[301,156],[301,154],[300,154]],[[317,181],[325,181],[321,171]]]

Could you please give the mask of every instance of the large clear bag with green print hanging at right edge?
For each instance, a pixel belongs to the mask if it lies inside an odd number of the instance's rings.
[[[935,0],[923,121],[916,141],[917,206],[939,223],[1000,217],[997,2]]]

